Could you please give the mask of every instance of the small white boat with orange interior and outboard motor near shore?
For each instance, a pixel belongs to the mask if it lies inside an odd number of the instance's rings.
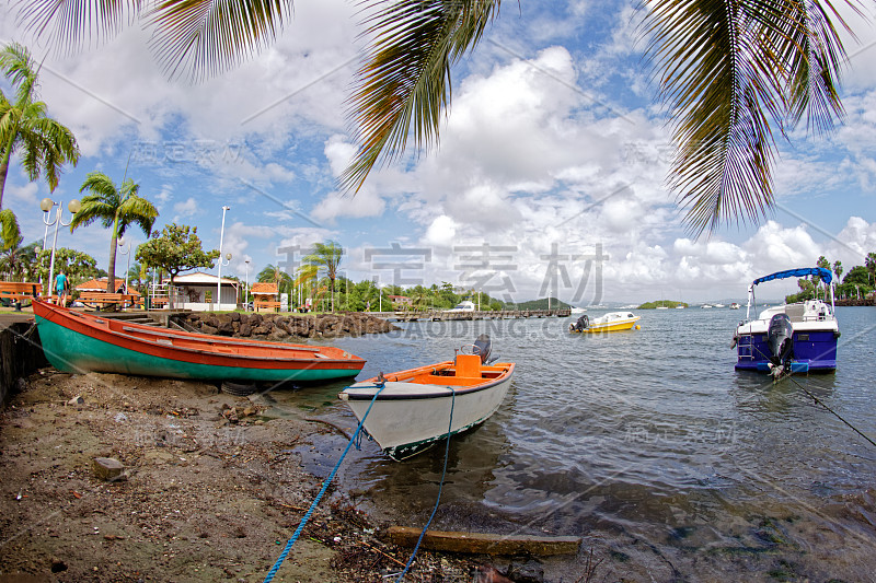
[[[400,462],[486,421],[511,385],[512,362],[491,364],[489,337],[481,335],[470,354],[390,374],[380,373],[345,388],[362,428]],[[463,347],[463,348],[466,348]],[[370,409],[370,410],[369,410]],[[452,421],[451,421],[452,411]]]

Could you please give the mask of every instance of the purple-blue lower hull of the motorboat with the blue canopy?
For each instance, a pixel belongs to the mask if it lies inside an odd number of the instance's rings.
[[[739,371],[768,371],[770,345],[766,334],[742,335],[736,346]],[[794,370],[796,368],[796,370]],[[794,333],[793,372],[831,372],[837,369],[837,335],[832,330]]]

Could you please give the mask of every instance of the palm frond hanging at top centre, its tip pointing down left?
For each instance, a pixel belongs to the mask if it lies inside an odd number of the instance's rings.
[[[339,178],[358,190],[371,170],[396,160],[408,133],[417,150],[438,140],[451,98],[450,67],[481,39],[500,0],[399,0],[365,20],[373,37],[348,101],[359,151]]]

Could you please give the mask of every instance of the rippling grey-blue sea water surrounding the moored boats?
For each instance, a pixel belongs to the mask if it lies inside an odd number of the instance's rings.
[[[590,317],[603,313],[590,311]],[[581,336],[573,318],[411,323],[333,341],[368,360],[360,378],[448,360],[481,333],[517,363],[505,403],[451,442],[434,528],[585,537],[545,562],[576,581],[876,580],[876,310],[840,307],[833,374],[773,385],[733,368],[745,308],[638,311],[641,330]],[[275,392],[281,415],[355,428],[343,384]],[[302,448],[321,475],[346,440]],[[424,524],[443,445],[404,463],[351,451],[341,489],[381,518]]]

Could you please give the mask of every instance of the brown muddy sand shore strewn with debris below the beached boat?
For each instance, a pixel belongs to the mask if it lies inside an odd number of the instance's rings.
[[[0,581],[262,581],[321,486],[296,450],[334,433],[263,412],[207,383],[41,369],[0,413]],[[330,489],[275,581],[385,581],[410,549],[381,526]],[[420,550],[406,579],[483,563]]]

